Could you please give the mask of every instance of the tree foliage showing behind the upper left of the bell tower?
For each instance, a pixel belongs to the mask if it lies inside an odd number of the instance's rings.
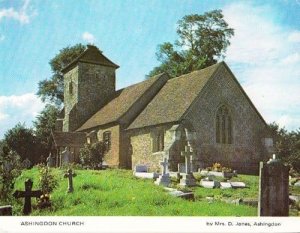
[[[37,95],[43,102],[62,106],[64,101],[64,80],[61,69],[71,63],[76,57],[85,50],[82,44],[68,46],[59,51],[59,53],[50,60],[49,64],[52,70],[52,76],[39,82]]]

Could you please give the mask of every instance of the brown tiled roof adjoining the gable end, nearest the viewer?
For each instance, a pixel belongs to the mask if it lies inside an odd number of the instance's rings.
[[[168,80],[128,129],[179,121],[220,64]]]

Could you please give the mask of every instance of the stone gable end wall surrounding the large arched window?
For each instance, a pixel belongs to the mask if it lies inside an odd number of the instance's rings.
[[[216,143],[216,112],[226,105],[232,116],[232,144]],[[240,172],[257,173],[259,161],[265,159],[262,137],[266,125],[225,67],[210,80],[186,116],[196,131],[198,166],[214,162]]]

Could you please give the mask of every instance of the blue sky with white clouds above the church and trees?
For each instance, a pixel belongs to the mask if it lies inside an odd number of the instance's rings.
[[[268,122],[300,128],[300,0],[0,0],[0,139],[32,126],[59,50],[92,43],[120,65],[117,89],[157,66],[185,15],[221,9],[235,30],[224,61]]]

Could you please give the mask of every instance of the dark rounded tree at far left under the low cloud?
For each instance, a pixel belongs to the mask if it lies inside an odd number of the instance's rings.
[[[18,123],[4,134],[4,141],[10,150],[17,152],[21,160],[28,158],[31,162],[39,162],[40,143],[31,128]]]

